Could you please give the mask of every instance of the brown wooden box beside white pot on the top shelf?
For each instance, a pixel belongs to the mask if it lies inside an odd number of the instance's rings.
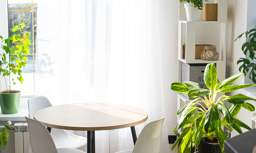
[[[202,21],[218,20],[218,4],[204,4]]]

